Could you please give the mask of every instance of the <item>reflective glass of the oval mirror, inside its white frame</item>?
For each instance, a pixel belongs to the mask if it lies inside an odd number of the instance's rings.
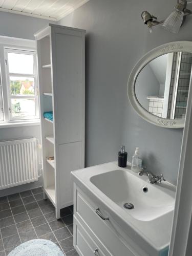
[[[166,118],[185,118],[192,53],[161,55],[139,73],[135,94],[142,107],[151,114]]]

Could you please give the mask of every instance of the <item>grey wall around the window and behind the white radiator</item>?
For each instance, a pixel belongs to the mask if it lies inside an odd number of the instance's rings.
[[[0,35],[34,40],[33,34],[39,29],[44,28],[48,23],[49,20],[1,12]],[[0,128],[0,140],[17,139],[24,137],[35,137],[38,140],[40,140],[40,126],[35,125],[12,128]],[[39,169],[40,167],[41,166],[39,165]],[[0,196],[13,194],[19,191],[24,191],[41,185],[42,177],[40,177],[37,182],[32,182],[26,185],[0,190]]]

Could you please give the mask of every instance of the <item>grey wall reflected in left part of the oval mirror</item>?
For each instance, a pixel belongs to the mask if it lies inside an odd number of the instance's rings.
[[[148,111],[150,100],[147,96],[158,96],[160,84],[151,66],[146,65],[139,73],[135,83],[135,93],[139,103]]]

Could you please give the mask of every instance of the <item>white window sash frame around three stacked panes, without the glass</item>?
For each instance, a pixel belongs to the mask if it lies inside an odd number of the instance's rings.
[[[34,74],[19,74],[19,73],[10,73],[9,72],[9,63],[8,63],[8,53],[17,53],[17,54],[29,54],[33,55],[33,70]],[[39,119],[39,100],[38,100],[38,79],[37,79],[37,59],[36,52],[25,50],[25,49],[12,49],[9,47],[4,47],[4,55],[5,55],[5,69],[6,69],[6,84],[7,84],[7,102],[8,102],[8,121],[29,121]],[[29,77],[34,78],[34,89],[35,95],[11,95],[10,92],[10,76],[14,77]],[[13,117],[12,116],[12,106],[11,99],[35,99],[35,116],[23,116],[23,117]]]

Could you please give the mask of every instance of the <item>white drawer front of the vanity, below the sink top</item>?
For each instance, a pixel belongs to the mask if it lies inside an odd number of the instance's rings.
[[[74,247],[80,256],[136,256],[123,241],[116,223],[74,186]],[[102,219],[105,218],[106,220]],[[108,219],[109,218],[109,219]],[[119,254],[120,253],[120,254]],[[145,253],[142,254],[146,255]]]

